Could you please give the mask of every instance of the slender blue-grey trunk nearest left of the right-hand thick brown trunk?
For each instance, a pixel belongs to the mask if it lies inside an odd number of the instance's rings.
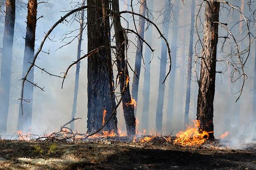
[[[193,42],[194,42],[194,8],[195,0],[191,1],[191,19],[190,19],[190,49],[188,53],[187,64],[187,87],[186,87],[186,103],[185,103],[185,125],[188,124],[188,113],[190,110],[190,89],[191,89],[191,74],[192,74],[192,57],[193,57]]]

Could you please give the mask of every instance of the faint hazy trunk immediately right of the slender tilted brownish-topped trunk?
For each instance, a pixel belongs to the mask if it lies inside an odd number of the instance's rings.
[[[147,5],[149,9],[153,10],[153,0],[147,0]],[[146,41],[151,44],[152,42],[152,27],[149,27],[146,32]],[[143,108],[142,108],[142,129],[148,130],[148,121],[149,121],[149,94],[150,94],[150,60],[151,60],[151,51],[148,46],[145,47],[145,72],[144,72],[144,82],[143,82]]]

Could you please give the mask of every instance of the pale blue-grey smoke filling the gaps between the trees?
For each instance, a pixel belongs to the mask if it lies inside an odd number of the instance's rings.
[[[37,21],[36,27],[36,47],[37,51],[45,32],[50,29],[50,27],[57,21],[61,16],[67,13],[68,10],[72,9],[77,2],[73,2],[73,0],[46,0],[48,3],[42,3],[38,5],[38,17],[43,16]],[[136,2],[136,3],[135,3]],[[134,10],[138,13],[140,4],[137,1],[134,2]],[[162,28],[163,21],[163,10],[166,7],[165,0],[150,0],[148,3],[152,3],[153,9],[149,9],[150,15],[149,18],[152,18],[154,23],[156,23],[159,28]],[[168,37],[168,42],[170,46],[172,43],[171,39],[173,36],[172,28],[174,25],[178,25],[178,39],[177,39],[177,62],[176,66],[172,67],[176,69],[175,74],[175,86],[174,86],[174,107],[173,112],[171,110],[167,110],[168,99],[168,85],[170,83],[169,78],[167,78],[165,83],[165,94],[164,94],[164,110],[163,110],[163,134],[168,134],[173,131],[173,135],[180,130],[185,129],[184,125],[184,113],[185,113],[185,97],[186,97],[186,82],[187,82],[187,64],[188,64],[188,50],[189,50],[189,41],[190,41],[190,15],[191,15],[191,2],[184,1],[184,3],[180,0],[172,0],[174,6],[171,14],[171,23],[169,27],[169,34],[165,35]],[[19,101],[17,99],[20,98],[21,91],[21,81],[19,81],[22,77],[22,63],[24,56],[24,43],[26,34],[26,0],[17,0],[16,6],[16,21],[15,21],[15,30],[14,30],[14,46],[13,46],[13,58],[12,58],[12,77],[11,77],[11,90],[10,90],[10,104],[9,104],[9,114],[7,119],[7,134],[12,134],[17,129],[17,122],[19,116]],[[232,1],[234,5],[241,6],[240,0]],[[196,0],[195,14],[197,14],[201,1]],[[2,36],[4,30],[4,4],[2,4],[1,12],[0,12],[0,47],[2,47]],[[120,10],[130,10],[130,7],[125,4],[124,1],[120,2]],[[244,6],[244,14],[245,16],[250,16],[250,11],[245,4]],[[85,16],[86,16],[85,11]],[[134,28],[132,18],[129,15],[124,15],[129,21],[129,28]],[[199,16],[201,20],[197,22],[199,36],[202,39],[202,24],[204,23],[204,7],[202,7],[199,12]],[[176,20],[178,18],[178,20]],[[85,18],[86,20],[86,18]],[[220,10],[220,22],[228,23],[228,27],[232,28],[238,21],[240,21],[240,14],[238,11],[226,9],[225,7],[221,7]],[[135,17],[135,22],[138,25],[138,17]],[[147,23],[146,23],[147,25]],[[123,21],[123,27],[127,26],[127,23]],[[149,25],[151,27],[152,25]],[[250,25],[252,27],[253,25]],[[70,23],[62,23],[57,26],[57,28],[52,32],[50,38],[54,41],[50,41],[47,39],[43,51],[50,52],[50,54],[40,53],[36,65],[47,69],[52,74],[59,74],[66,71],[66,68],[73,61],[76,60],[76,52],[77,52],[77,44],[78,40],[75,39],[71,44],[68,44],[62,48],[59,48],[65,45],[66,42],[73,39],[63,39],[63,35],[70,33],[72,30],[76,30],[72,32],[69,36],[76,36],[79,34],[79,23],[78,22],[70,22]],[[239,44],[240,48],[247,48],[249,45],[248,38],[243,39],[243,33],[246,31],[245,22],[243,22],[242,27],[239,27],[239,24],[235,25],[232,28],[234,35],[237,39],[242,40]],[[157,105],[157,96],[158,96],[158,87],[159,87],[159,71],[160,71],[160,56],[161,56],[161,39],[159,39],[160,35],[157,33],[156,29],[152,29],[152,35],[147,34],[145,32],[145,40],[147,41],[150,36],[152,36],[152,41],[150,45],[152,46],[154,51],[154,55],[152,54],[152,62],[151,66],[151,81],[150,81],[150,100],[149,100],[149,129],[155,130],[156,126],[156,105]],[[251,32],[255,33],[255,30],[251,30]],[[223,28],[219,27],[219,37],[226,36],[227,32]],[[246,34],[246,33],[245,33]],[[113,34],[111,35],[113,36]],[[129,34],[128,38],[136,44],[136,37],[134,35]],[[198,46],[197,41],[198,36],[194,34],[194,49],[199,53],[201,51],[200,46]],[[229,40],[228,42],[231,42]],[[218,53],[217,57],[219,59],[222,58],[223,53],[228,53],[230,50],[231,44],[226,43],[225,49],[222,50],[223,39],[219,39],[218,41]],[[197,45],[195,45],[197,44]],[[233,45],[232,45],[233,46]],[[82,41],[82,55],[83,53],[87,53],[87,34],[86,31],[83,32],[83,41]],[[130,42],[129,50],[128,50],[128,60],[132,67],[134,67],[135,62],[135,51],[136,47],[133,43]],[[145,44],[143,48],[143,54],[145,53]],[[199,54],[200,55],[200,54]],[[242,136],[249,136],[253,138],[254,129],[252,122],[252,102],[253,97],[253,88],[254,88],[254,60],[255,60],[255,43],[251,44],[251,53],[246,63],[245,72],[247,74],[247,80],[243,89],[242,96],[240,99],[236,101],[237,94],[232,94],[232,90],[239,91],[241,89],[241,81],[238,80],[235,85],[230,81],[230,71],[232,68],[226,68],[225,64],[222,62],[217,62],[216,71],[223,71],[223,74],[217,74],[216,76],[216,93],[215,93],[215,101],[214,101],[214,128],[215,128],[215,137],[218,138],[225,131],[229,131],[228,140],[239,140]],[[114,57],[114,56],[113,56]],[[145,57],[145,56],[144,56]],[[148,56],[147,56],[148,57]],[[168,57],[168,56],[166,56]],[[190,102],[190,112],[189,112],[189,120],[192,123],[193,119],[196,119],[196,110],[197,110],[197,94],[198,94],[198,85],[197,78],[194,74],[194,59],[192,63],[192,86],[191,86],[191,102]],[[142,62],[143,63],[143,62]],[[149,64],[149,63],[145,63]],[[168,71],[168,64],[166,67],[166,71]],[[197,64],[197,72],[199,73],[200,64]],[[114,77],[116,77],[116,68],[114,67]],[[137,101],[137,129],[138,131],[143,131],[142,124],[142,89],[143,89],[143,81],[144,81],[144,72],[147,71],[144,69],[142,65],[141,74],[140,74],[140,83],[139,83],[139,92],[138,92],[138,101]],[[58,131],[59,127],[66,122],[69,122],[71,119],[71,111],[73,104],[73,91],[74,91],[74,83],[75,83],[75,67],[71,69],[69,72],[65,83],[64,88],[61,89],[62,79],[51,77],[45,73],[42,73],[40,69],[35,68],[35,76],[34,82],[39,86],[45,86],[45,92],[40,91],[38,88],[34,88],[33,92],[33,119],[32,119],[32,133],[42,134],[46,131]],[[133,72],[129,70],[130,73],[130,82],[132,81]],[[60,74],[62,75],[62,74]],[[164,80],[164,77],[160,77],[160,79]],[[131,83],[130,83],[131,84]],[[119,88],[118,88],[119,89]],[[79,132],[87,131],[87,59],[81,61],[81,69],[80,69],[80,79],[79,79],[79,88],[78,88],[78,104],[77,104],[77,113],[76,117],[81,117],[82,120],[76,122],[75,127]],[[256,103],[255,103],[256,104]],[[166,124],[166,115],[172,112],[172,121],[171,124]],[[125,130],[125,123],[123,119],[122,107],[119,106],[118,113],[118,127],[121,131]]]

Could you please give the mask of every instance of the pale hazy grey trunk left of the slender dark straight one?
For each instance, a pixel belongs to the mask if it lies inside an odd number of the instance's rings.
[[[171,118],[173,116],[173,103],[174,103],[174,86],[175,86],[175,74],[176,74],[176,59],[177,59],[177,37],[178,37],[178,21],[180,2],[175,1],[175,21],[172,24],[172,40],[171,40],[171,52],[172,52],[172,67],[169,77],[169,91],[168,91],[168,104],[167,104],[167,118],[166,124],[171,124]]]

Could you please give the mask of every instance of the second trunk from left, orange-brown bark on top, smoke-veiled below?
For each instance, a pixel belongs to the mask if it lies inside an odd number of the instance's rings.
[[[30,63],[33,61],[35,52],[35,40],[36,40],[36,16],[37,16],[37,0],[28,0],[28,16],[27,16],[27,30],[25,39],[25,50],[23,59],[22,77],[25,76]],[[34,69],[28,74],[28,80],[33,82]],[[24,99],[30,101],[30,103],[24,102],[23,113],[21,112],[21,106],[19,109],[19,121],[18,130],[31,131],[32,122],[32,103],[33,103],[33,85],[26,83],[24,85]]]

